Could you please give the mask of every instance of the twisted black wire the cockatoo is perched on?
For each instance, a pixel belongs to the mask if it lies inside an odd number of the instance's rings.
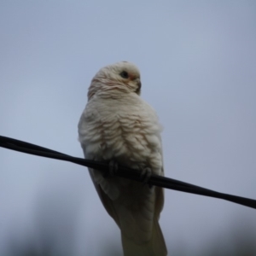
[[[0,136],[0,147],[9,148],[9,149],[23,152],[26,154],[34,154],[34,155],[39,155],[39,156],[43,156],[51,159],[64,160],[64,161],[72,162],[74,164],[78,164],[80,166],[87,166],[90,168],[94,168],[96,170],[108,172],[108,162],[99,162],[95,160],[85,160],[82,158],[73,157],[68,154],[62,154],[60,152],[51,150],[49,148],[43,148],[31,143],[25,143],[10,137]],[[137,172],[137,170],[132,170],[125,166],[119,166],[119,170],[116,173],[116,175],[119,177],[130,178],[139,182],[142,181],[141,176]],[[204,189],[204,188],[195,186],[190,183],[183,183],[181,181],[178,181],[170,177],[162,177],[159,175],[152,174],[152,176],[148,180],[148,184],[163,187],[166,189],[183,191],[183,192],[196,194],[196,195],[206,195],[210,197],[224,199],[226,201],[232,201],[237,204],[256,209],[256,201],[253,199],[236,196],[236,195],[219,193],[210,189]]]

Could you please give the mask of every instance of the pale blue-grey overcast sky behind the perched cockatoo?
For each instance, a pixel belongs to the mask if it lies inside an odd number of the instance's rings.
[[[132,61],[164,126],[166,176],[256,199],[254,1],[3,0],[0,36],[0,135],[83,157],[77,125],[90,80]],[[253,209],[165,195],[170,254],[229,245],[234,230],[256,234]],[[62,255],[121,250],[87,168],[0,148],[0,254],[12,242],[43,247],[45,234]]]

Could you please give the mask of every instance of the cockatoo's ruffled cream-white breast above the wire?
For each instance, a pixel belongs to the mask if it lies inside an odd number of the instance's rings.
[[[79,140],[85,146],[86,158],[114,159],[131,168],[152,162],[151,167],[159,169],[160,125],[154,113],[136,104],[111,103],[88,104],[82,114]]]

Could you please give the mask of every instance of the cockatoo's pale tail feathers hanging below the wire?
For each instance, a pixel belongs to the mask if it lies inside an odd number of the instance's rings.
[[[121,232],[122,233],[122,232]],[[122,233],[122,243],[125,256],[166,256],[166,242],[158,220],[154,219],[151,239],[143,244],[137,244]]]

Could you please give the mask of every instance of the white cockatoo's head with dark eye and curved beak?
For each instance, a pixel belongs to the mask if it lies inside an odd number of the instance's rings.
[[[102,67],[96,73],[90,84],[88,99],[98,91],[112,95],[131,92],[140,95],[141,86],[138,68],[131,62],[122,61]]]

